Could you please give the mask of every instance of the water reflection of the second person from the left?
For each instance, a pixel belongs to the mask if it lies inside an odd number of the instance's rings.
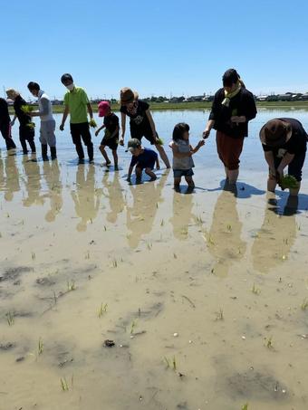
[[[41,193],[41,170],[36,161],[29,160],[28,157],[23,157],[24,186],[27,192],[27,197],[23,199],[23,205],[29,207],[31,205],[43,205],[43,195]]]

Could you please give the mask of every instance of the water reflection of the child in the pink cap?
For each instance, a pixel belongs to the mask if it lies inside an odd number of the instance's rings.
[[[105,172],[102,177],[102,185],[108,192],[105,196],[109,198],[109,204],[111,207],[110,212],[107,214],[107,221],[114,224],[117,221],[118,215],[124,210],[125,201],[123,198],[122,187],[120,186],[119,172],[113,173],[112,181],[108,180],[110,174],[110,172]]]

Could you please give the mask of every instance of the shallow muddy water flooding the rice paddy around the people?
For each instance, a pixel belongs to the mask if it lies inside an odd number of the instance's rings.
[[[164,167],[130,186],[124,148],[119,172],[97,147],[78,166],[68,127],[53,163],[2,149],[1,410],[308,408],[308,167],[298,204],[266,195],[257,138],[289,116],[308,129],[305,111],[253,121],[236,195],[214,134],[192,195]],[[187,121],[194,145],[207,112],[154,119],[166,142]]]

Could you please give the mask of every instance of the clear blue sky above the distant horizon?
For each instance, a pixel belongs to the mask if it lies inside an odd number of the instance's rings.
[[[234,67],[255,93],[308,91],[307,0],[0,0],[1,92],[196,95]]]

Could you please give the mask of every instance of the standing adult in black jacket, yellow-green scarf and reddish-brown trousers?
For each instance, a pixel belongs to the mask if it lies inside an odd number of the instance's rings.
[[[234,69],[225,72],[223,85],[215,94],[203,138],[209,136],[212,128],[217,130],[217,153],[225,166],[226,179],[229,184],[236,184],[248,121],[256,115],[255,99]]]

